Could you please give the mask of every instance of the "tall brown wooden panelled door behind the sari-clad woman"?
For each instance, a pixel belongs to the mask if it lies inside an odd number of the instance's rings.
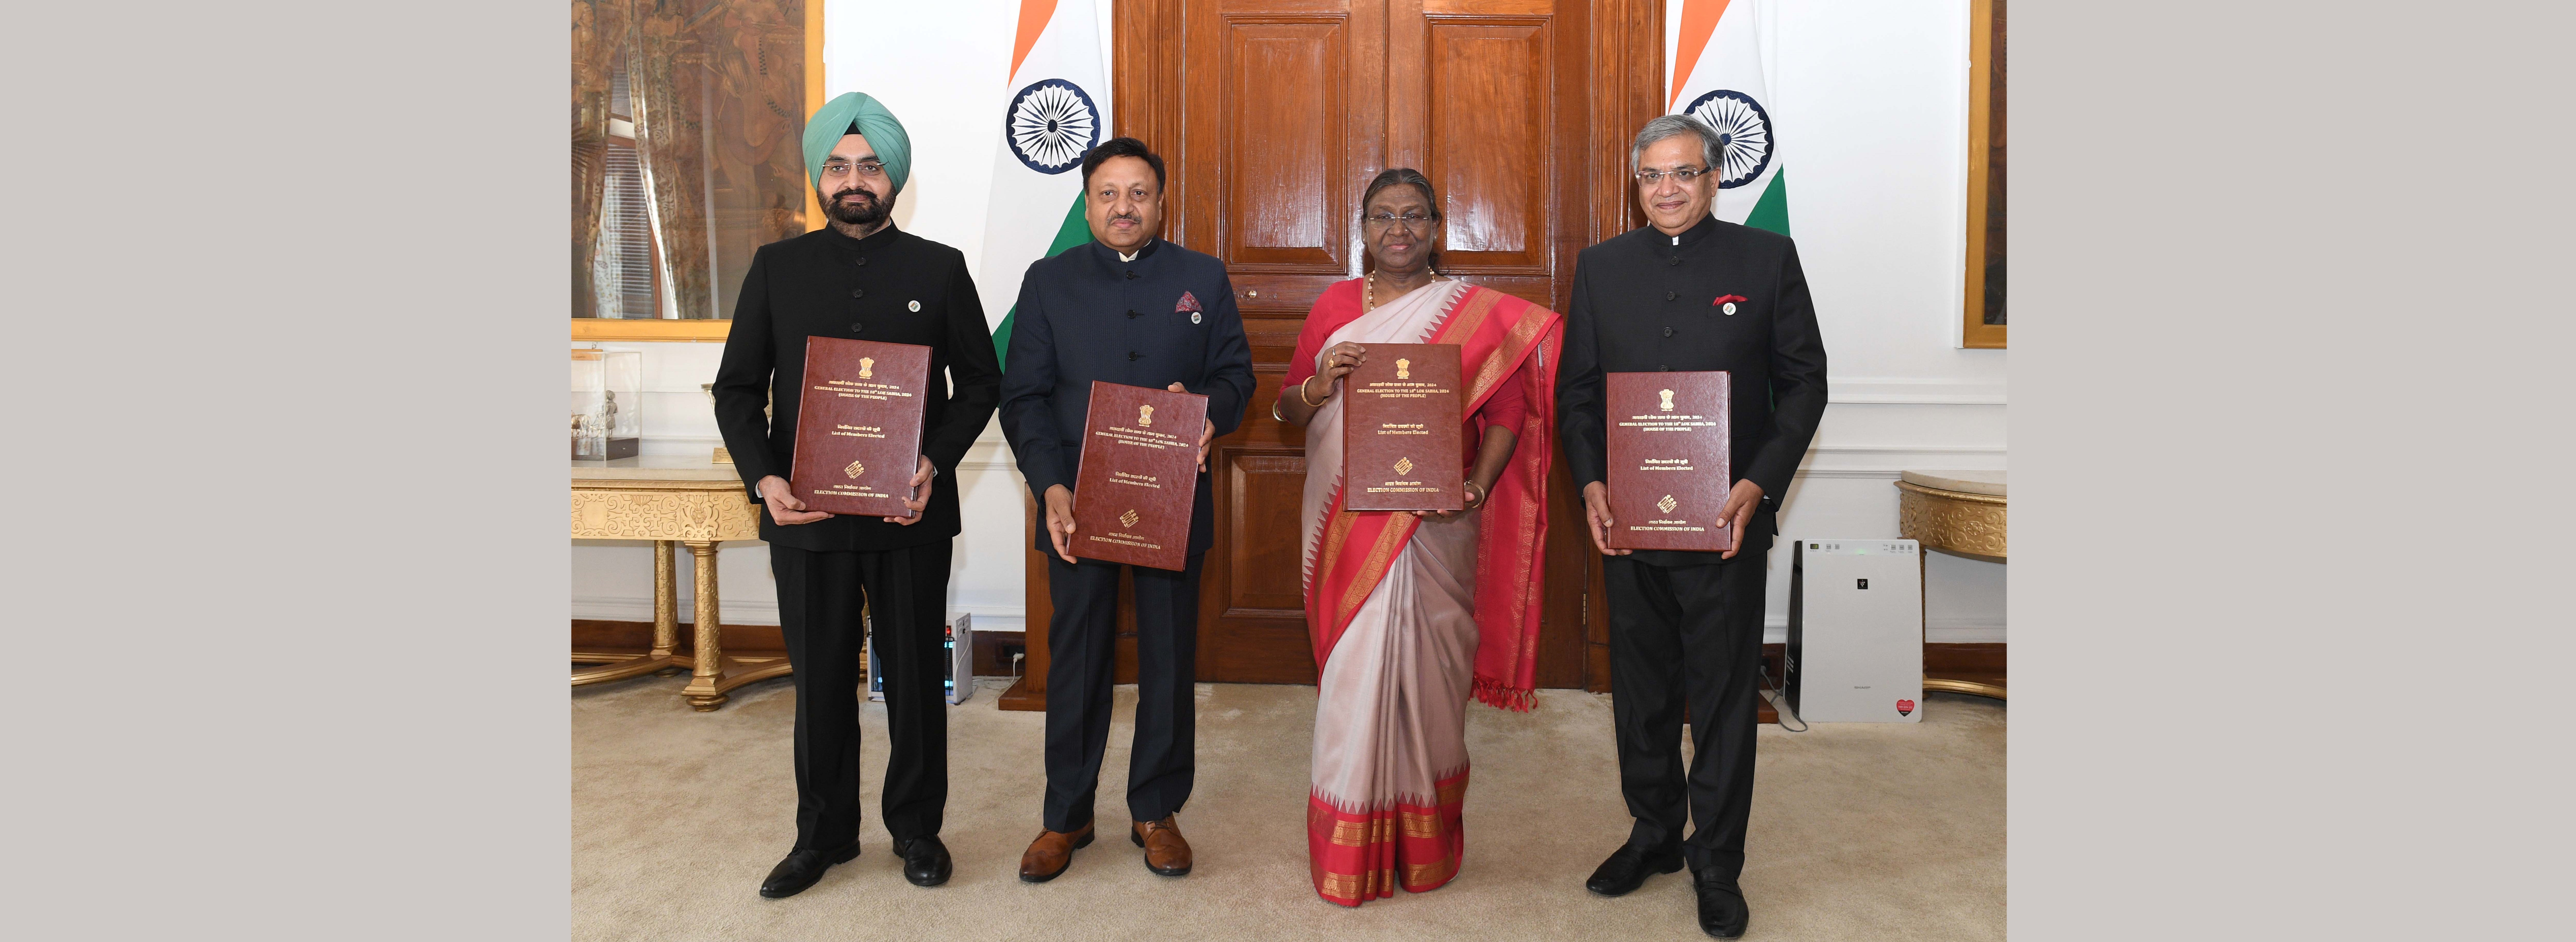
[[[1378,170],[1422,170],[1445,214],[1440,270],[1564,311],[1574,252],[1638,224],[1625,147],[1662,111],[1662,10],[1118,0],[1115,18],[1118,134],[1164,154],[1164,237],[1226,263],[1255,360],[1244,425],[1211,453],[1198,679],[1314,682],[1298,546],[1306,432],[1270,420],[1270,402],[1316,296],[1365,268],[1360,190]],[[1605,628],[1589,625],[1602,607],[1587,600],[1600,564],[1582,530],[1556,461],[1540,687],[1607,685]],[[1028,577],[1028,669],[1043,674],[1043,556],[1030,553]],[[1133,633],[1126,600],[1118,631]],[[1123,638],[1121,682],[1131,651]]]

